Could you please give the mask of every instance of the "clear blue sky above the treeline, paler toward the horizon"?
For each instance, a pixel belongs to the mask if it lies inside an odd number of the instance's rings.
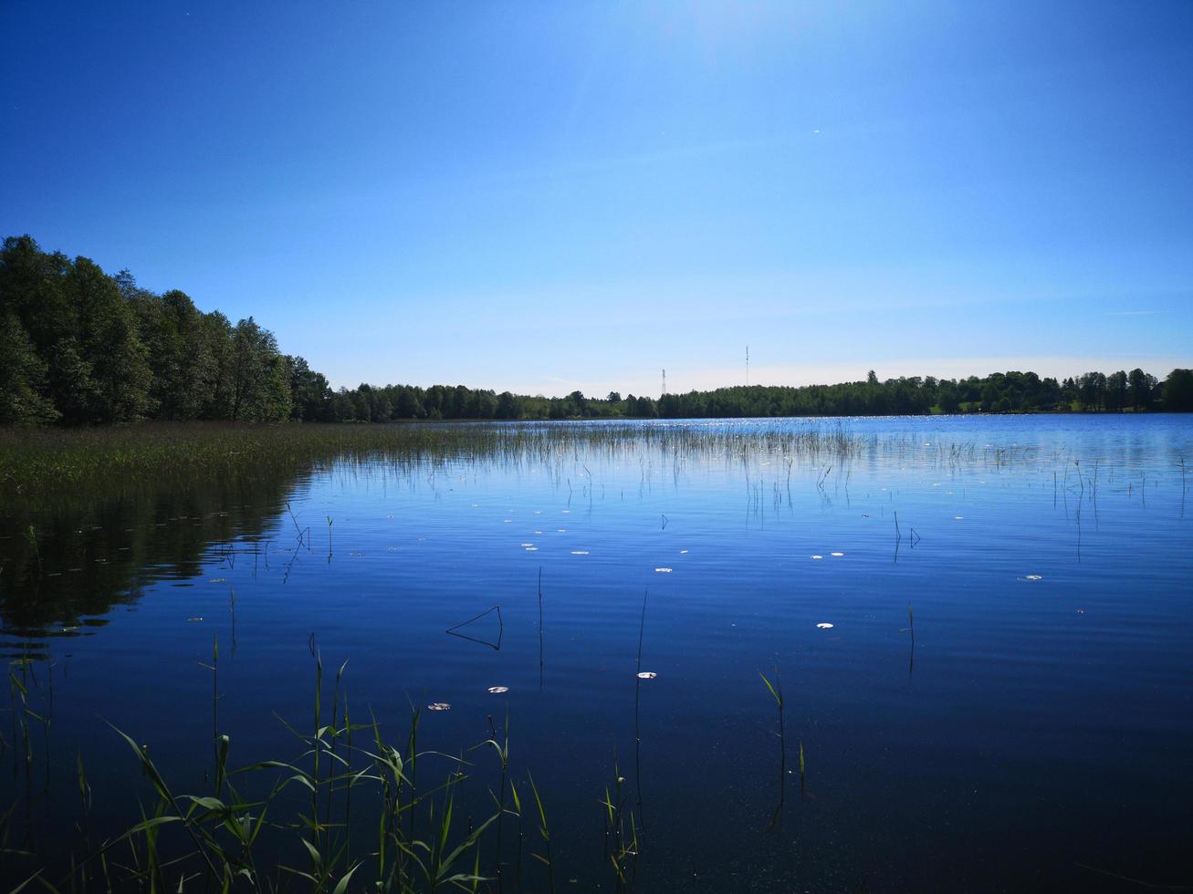
[[[0,235],[335,385],[1193,366],[1193,2],[0,2]]]

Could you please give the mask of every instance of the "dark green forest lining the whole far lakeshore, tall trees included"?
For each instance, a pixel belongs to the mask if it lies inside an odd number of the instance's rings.
[[[576,417],[836,416],[929,412],[1193,410],[1193,371],[1161,383],[1142,370],[1057,380],[1032,372],[685,395],[530,397],[463,385],[333,390],[248,317],[203,312],[180,291],[137,286],[29,236],[0,252],[0,424],[137,420],[384,422]]]

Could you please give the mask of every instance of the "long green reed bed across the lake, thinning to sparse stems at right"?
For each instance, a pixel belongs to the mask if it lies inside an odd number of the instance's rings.
[[[89,429],[0,428],[0,496],[12,503],[64,498],[80,489],[128,491],[156,482],[303,474],[384,464],[434,474],[460,462],[545,465],[561,484],[592,486],[587,462],[642,462],[678,476],[690,461],[766,460],[843,471],[883,457],[940,468],[1039,459],[1031,448],[923,445],[913,434],[861,435],[847,421],[480,422],[388,424],[144,423]],[[573,470],[573,471],[569,471]],[[789,474],[790,480],[790,474]]]

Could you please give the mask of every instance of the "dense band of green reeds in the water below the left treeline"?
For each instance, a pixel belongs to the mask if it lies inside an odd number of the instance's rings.
[[[574,461],[588,455],[657,449],[660,465],[678,474],[692,455],[727,459],[781,453],[793,458],[855,455],[876,439],[852,434],[841,422],[759,426],[722,423],[142,423],[76,429],[0,428],[0,493],[10,498],[63,495],[82,484],[113,489],[137,479],[227,476],[243,467],[329,467],[340,460],[384,459],[398,468],[433,471],[458,460]],[[790,468],[789,468],[790,471]],[[586,471],[588,490],[592,472]],[[567,476],[560,471],[560,480]],[[645,472],[643,480],[645,482]],[[296,530],[303,534],[291,513]],[[330,528],[330,520],[328,520]]]

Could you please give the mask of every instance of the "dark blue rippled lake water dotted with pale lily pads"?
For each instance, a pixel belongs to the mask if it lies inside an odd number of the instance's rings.
[[[561,888],[614,887],[614,760],[639,890],[1193,886],[1193,420],[816,423],[849,457],[681,424],[737,436],[0,510],[2,647],[52,694],[31,772],[4,724],[13,839],[72,846],[79,756],[93,832],[135,821],[109,724],[199,791],[218,637],[233,763],[299,753],[278,718],[310,716],[313,647],[395,738],[412,701],[452,706],[421,733],[453,753],[508,713]]]

